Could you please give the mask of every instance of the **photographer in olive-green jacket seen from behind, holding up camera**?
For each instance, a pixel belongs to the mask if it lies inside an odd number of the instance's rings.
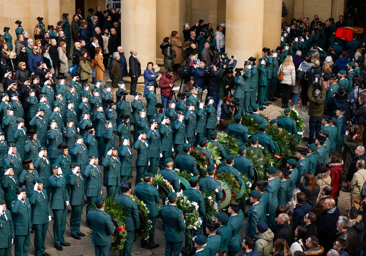
[[[324,102],[326,90],[324,84],[320,80],[320,90],[315,89],[315,84],[312,83],[307,91],[307,97],[309,98],[309,142],[308,145],[313,144],[314,133],[319,134],[322,125],[322,117],[324,114]]]

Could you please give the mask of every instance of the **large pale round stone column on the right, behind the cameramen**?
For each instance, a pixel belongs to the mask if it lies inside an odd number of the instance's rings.
[[[264,0],[226,1],[225,52],[236,55],[243,67],[250,56],[261,57]]]

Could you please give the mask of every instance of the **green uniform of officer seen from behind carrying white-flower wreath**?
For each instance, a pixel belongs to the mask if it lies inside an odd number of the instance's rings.
[[[175,204],[168,204],[161,208],[160,214],[165,223],[165,256],[179,255],[186,228],[183,212]]]

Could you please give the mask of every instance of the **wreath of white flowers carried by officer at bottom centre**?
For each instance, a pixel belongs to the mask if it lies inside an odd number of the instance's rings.
[[[169,204],[167,200],[165,203]],[[199,217],[198,204],[191,202],[183,194],[183,192],[177,193],[177,208],[182,210],[184,215],[184,221],[186,222],[187,229],[197,230],[202,225],[202,219]],[[192,243],[191,232],[187,232],[190,243]]]

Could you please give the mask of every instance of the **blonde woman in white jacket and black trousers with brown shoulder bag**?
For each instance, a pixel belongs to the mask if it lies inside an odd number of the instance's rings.
[[[295,86],[295,65],[292,61],[292,56],[287,55],[283,63],[280,65],[277,75],[283,72],[283,79],[280,82],[282,84],[282,108],[288,108],[288,99],[290,98],[292,86]],[[295,96],[295,95],[294,95]],[[299,96],[299,95],[298,95]],[[298,103],[299,97],[294,103]]]

